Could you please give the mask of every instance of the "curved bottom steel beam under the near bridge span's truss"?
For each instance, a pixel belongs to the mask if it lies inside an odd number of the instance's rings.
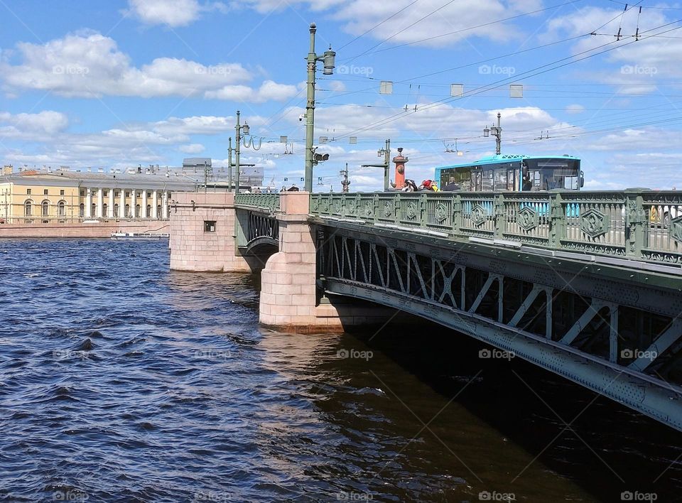
[[[326,278],[326,290],[362,298],[423,316],[501,350],[513,352],[608,398],[682,431],[682,389],[646,374],[624,369],[545,337],[480,315],[343,278]]]

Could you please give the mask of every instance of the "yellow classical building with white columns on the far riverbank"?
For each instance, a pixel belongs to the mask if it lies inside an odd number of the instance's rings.
[[[82,220],[164,220],[174,191],[196,180],[170,171],[98,173],[56,170],[0,175],[0,222],[66,223]]]

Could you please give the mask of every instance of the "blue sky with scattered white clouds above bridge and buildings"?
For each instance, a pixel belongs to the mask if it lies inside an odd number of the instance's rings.
[[[345,163],[352,189],[380,188],[381,170],[361,165],[385,139],[419,180],[493,153],[482,129],[498,112],[504,153],[578,156],[586,188],[682,187],[680,3],[0,0],[0,12],[0,155],[14,166],[224,165],[239,109],[261,141],[242,161],[298,183],[314,21],[317,52],[337,52],[335,75],[318,70],[315,143],[328,137],[330,161],[315,190],[340,190]]]

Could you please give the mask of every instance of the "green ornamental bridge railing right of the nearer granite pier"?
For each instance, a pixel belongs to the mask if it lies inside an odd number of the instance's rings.
[[[313,194],[310,215],[682,265],[682,191]]]

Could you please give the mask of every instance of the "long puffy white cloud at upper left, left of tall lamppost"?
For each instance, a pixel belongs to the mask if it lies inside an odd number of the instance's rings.
[[[19,43],[21,64],[0,61],[6,92],[50,90],[66,97],[193,96],[266,102],[287,99],[296,87],[266,80],[258,89],[239,63],[202,65],[177,58],[156,58],[141,67],[131,65],[117,43],[99,33],[77,33],[43,45]]]

